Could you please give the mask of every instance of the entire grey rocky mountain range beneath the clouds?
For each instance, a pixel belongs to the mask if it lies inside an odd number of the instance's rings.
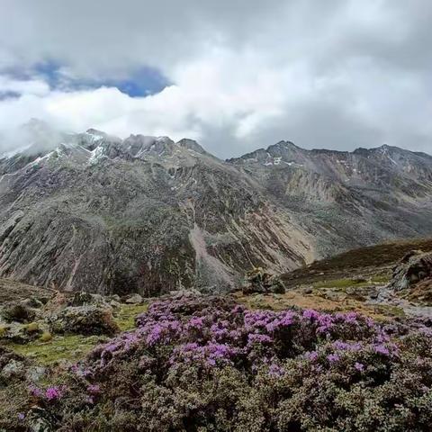
[[[33,125],[34,126],[34,125]],[[34,129],[34,128],[33,128]],[[49,134],[0,158],[0,276],[100,293],[220,291],[432,232],[432,157],[280,142],[222,161],[191,139]]]

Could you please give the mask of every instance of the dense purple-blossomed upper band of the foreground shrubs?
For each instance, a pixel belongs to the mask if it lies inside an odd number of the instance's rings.
[[[347,353],[390,356],[394,351],[383,328],[356,312],[248,311],[220,297],[154,302],[136,324],[137,329],[96,347],[81,374],[101,373],[131,356],[142,371],[193,363],[250,370],[273,365],[275,374],[275,365],[288,358],[335,365]]]

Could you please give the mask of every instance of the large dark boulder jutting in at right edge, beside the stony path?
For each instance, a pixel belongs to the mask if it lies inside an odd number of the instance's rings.
[[[411,250],[393,267],[390,288],[401,291],[425,279],[432,279],[432,253]]]

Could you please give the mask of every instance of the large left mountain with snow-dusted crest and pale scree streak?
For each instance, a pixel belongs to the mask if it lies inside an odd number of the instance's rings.
[[[0,275],[64,290],[223,290],[311,260],[253,178],[196,142],[89,130],[0,160]]]

